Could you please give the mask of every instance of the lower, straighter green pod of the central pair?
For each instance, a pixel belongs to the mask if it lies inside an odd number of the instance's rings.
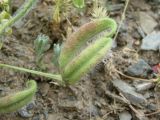
[[[111,38],[100,38],[75,57],[64,69],[63,78],[73,84],[103,58],[112,46]]]

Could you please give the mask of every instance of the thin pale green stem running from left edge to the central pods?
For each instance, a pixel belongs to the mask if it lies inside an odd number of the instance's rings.
[[[58,83],[63,84],[63,80],[62,80],[62,77],[61,77],[60,74],[44,73],[44,72],[40,72],[40,71],[30,70],[30,69],[26,69],[26,68],[22,68],[22,67],[16,67],[16,66],[7,65],[7,64],[0,64],[0,67],[6,67],[6,68],[14,69],[14,70],[19,70],[19,71],[22,71],[22,72],[28,72],[28,73],[35,74],[35,75],[41,75],[43,77],[54,79]]]

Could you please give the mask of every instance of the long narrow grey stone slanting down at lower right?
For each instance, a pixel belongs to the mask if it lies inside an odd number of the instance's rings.
[[[134,87],[131,87],[128,83],[122,80],[113,80],[113,85],[118,89],[119,92],[134,105],[145,105],[147,100],[142,94],[135,91]]]

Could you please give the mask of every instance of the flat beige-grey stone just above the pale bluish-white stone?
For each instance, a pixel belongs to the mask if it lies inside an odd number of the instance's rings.
[[[158,23],[146,12],[139,13],[140,25],[146,34],[150,34]]]

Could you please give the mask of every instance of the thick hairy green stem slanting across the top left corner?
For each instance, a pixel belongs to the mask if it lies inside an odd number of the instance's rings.
[[[22,5],[22,7],[20,7],[16,14],[9,19],[8,22],[4,23],[1,27],[0,27],[0,35],[3,33],[3,31],[7,28],[12,26],[15,22],[17,22],[19,19],[21,19],[23,16],[26,15],[26,13],[32,8],[33,4],[36,2],[37,0],[26,0],[25,3]]]

